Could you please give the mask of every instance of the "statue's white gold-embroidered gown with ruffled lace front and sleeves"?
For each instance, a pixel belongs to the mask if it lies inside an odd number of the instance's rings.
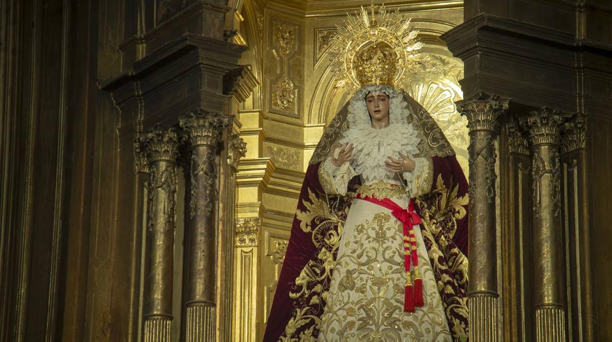
[[[354,125],[340,141],[346,142],[353,143],[356,157],[339,168],[328,159],[319,171],[328,187],[342,195],[356,174],[365,186],[382,180],[401,187],[397,174],[387,172],[384,161],[387,156],[398,158],[398,152],[412,158],[418,152],[419,139],[410,124],[382,129]],[[409,191],[417,196],[430,189],[433,170],[429,158],[413,160],[414,171],[404,177]],[[401,207],[409,203],[406,195],[390,199]],[[414,233],[425,305],[406,313],[401,221],[385,207],[361,199],[353,201],[341,232],[318,341],[452,341],[418,226]]]

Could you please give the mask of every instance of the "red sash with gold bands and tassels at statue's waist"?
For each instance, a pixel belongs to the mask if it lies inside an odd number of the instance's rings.
[[[408,209],[403,209],[389,198],[376,199],[370,196],[362,196],[361,194],[357,194],[356,198],[378,204],[381,207],[386,207],[391,210],[391,214],[401,221],[404,227],[404,267],[406,270],[404,311],[414,312],[414,307],[423,306],[423,280],[421,280],[419,275],[417,239],[414,237],[414,230],[412,229],[412,226],[421,223],[421,219],[419,215],[414,212],[414,199],[410,199]],[[411,261],[414,266],[414,287],[412,286],[412,276],[410,273]]]

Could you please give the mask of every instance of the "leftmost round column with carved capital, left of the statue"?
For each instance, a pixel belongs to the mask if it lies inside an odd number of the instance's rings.
[[[147,223],[147,269],[144,291],[144,341],[171,339],[174,204],[178,136],[174,128],[156,125],[141,142],[151,162],[149,222]]]

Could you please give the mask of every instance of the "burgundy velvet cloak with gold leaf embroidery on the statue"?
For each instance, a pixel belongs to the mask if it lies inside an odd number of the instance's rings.
[[[316,341],[359,176],[346,196],[326,196],[319,165],[308,166],[264,341]],[[431,191],[416,199],[422,234],[454,341],[468,337],[468,182],[454,155],[433,157]],[[331,210],[330,210],[331,209]]]

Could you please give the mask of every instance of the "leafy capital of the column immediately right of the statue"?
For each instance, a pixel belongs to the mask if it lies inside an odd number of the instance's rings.
[[[508,109],[510,99],[498,95],[487,95],[479,93],[472,99],[457,102],[461,115],[468,118],[470,131],[489,130],[494,131],[499,114]]]

